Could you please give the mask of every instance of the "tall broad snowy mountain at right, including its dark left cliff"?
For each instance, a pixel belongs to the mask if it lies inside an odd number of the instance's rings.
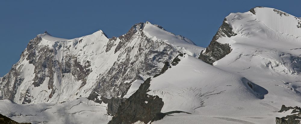
[[[298,105],[300,23],[297,17],[268,7],[231,13],[199,58],[266,89],[265,105]]]

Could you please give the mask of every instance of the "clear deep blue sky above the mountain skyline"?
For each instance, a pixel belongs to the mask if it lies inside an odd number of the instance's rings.
[[[0,77],[20,59],[30,39],[48,31],[72,39],[102,30],[125,34],[149,21],[206,47],[229,13],[256,6],[301,17],[300,0],[5,0],[0,2]]]

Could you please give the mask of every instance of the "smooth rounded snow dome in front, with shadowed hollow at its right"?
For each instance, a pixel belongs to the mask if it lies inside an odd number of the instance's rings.
[[[263,99],[263,95],[267,93],[244,77],[213,67],[187,54],[178,58],[181,61],[162,75],[152,78],[149,87],[151,91],[148,94],[158,95],[163,99],[163,113],[194,113],[203,106],[219,105],[217,99],[235,105],[240,99]]]

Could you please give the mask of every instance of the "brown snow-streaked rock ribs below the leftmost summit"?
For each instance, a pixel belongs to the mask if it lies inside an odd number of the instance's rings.
[[[20,61],[16,63],[10,72],[2,78],[1,83],[5,82],[5,86],[2,87],[2,94],[4,96],[0,96],[0,99],[10,99],[14,101],[14,95],[16,94],[17,88],[23,82],[24,77],[22,74],[23,64],[22,61],[25,59],[29,62],[29,64],[34,65],[34,78],[33,78],[33,86],[39,87],[43,82],[48,78],[48,90],[51,90],[48,98],[45,100],[49,100],[53,97],[54,93],[57,91],[57,88],[54,87],[54,76],[58,78],[59,81],[62,80],[65,73],[72,73],[77,81],[82,80],[82,85],[85,85],[85,78],[87,75],[92,72],[89,69],[91,66],[90,61],[85,61],[85,65],[82,66],[77,61],[77,58],[72,55],[66,55],[63,57],[61,63],[55,60],[54,55],[57,54],[57,50],[61,49],[62,46],[58,45],[57,48],[50,48],[49,46],[41,46],[39,43],[41,42],[41,37],[36,37],[29,41],[27,48],[22,52]],[[65,46],[65,48],[70,49],[71,46]],[[56,75],[55,75],[56,74]],[[13,85],[10,83],[14,82]],[[32,102],[30,90],[26,90],[25,94],[20,93],[20,98],[18,100],[23,100],[23,104]]]

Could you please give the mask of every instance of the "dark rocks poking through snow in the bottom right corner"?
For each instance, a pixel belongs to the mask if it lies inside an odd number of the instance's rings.
[[[285,105],[282,105],[281,110],[278,112],[285,112],[293,110],[290,114],[287,115],[286,117],[276,117],[276,124],[300,124],[300,119],[301,119],[301,108],[296,106],[296,107],[286,107]]]

